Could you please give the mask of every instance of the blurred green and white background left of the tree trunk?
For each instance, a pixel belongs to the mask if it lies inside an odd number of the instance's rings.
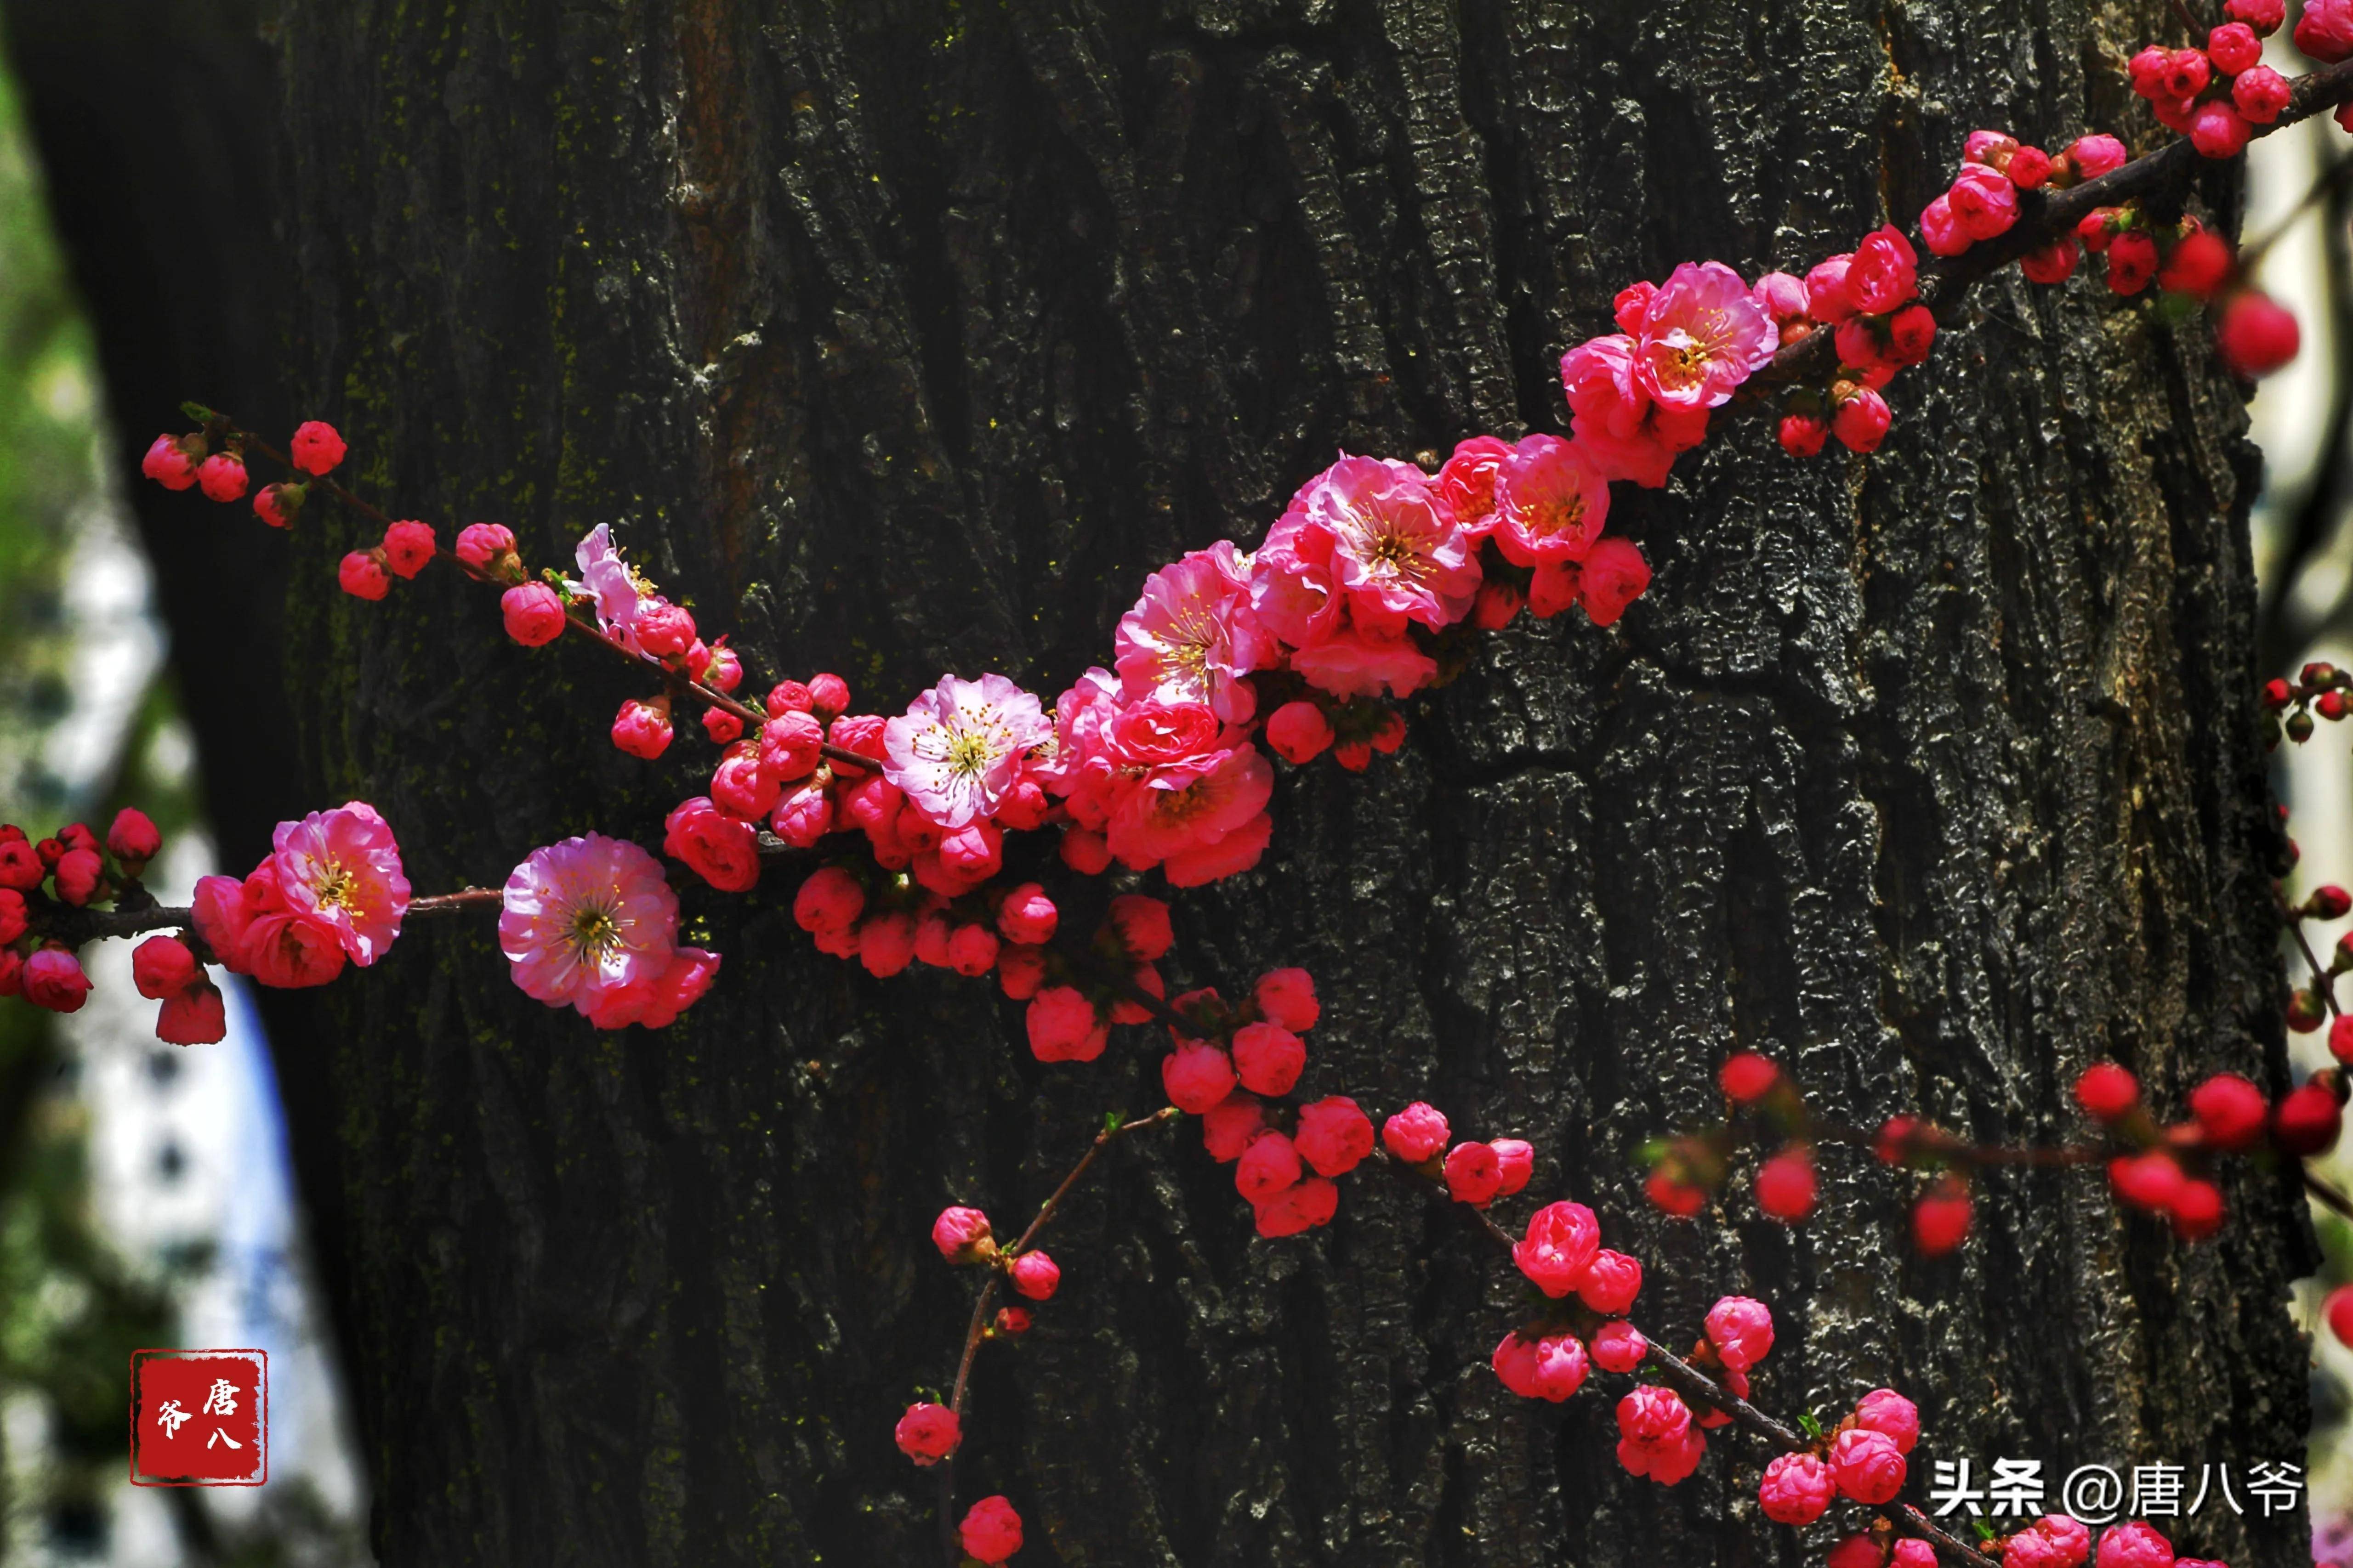
[[[148,884],[186,903],[221,867],[125,510],[134,463],[101,404],[0,71],[0,820],[104,832],[136,802],[165,835]],[[0,1009],[0,1563],[367,1563],[362,1469],[252,997],[224,976],[228,1037],[158,1044],[129,947],[85,950],[96,992],[80,1013]],[[136,1347],[268,1352],[266,1486],[129,1486]]]

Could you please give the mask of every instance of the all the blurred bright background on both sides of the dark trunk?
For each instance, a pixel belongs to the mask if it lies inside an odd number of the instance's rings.
[[[16,40],[40,52],[35,7],[9,9]],[[56,94],[61,73],[45,61],[26,80]],[[2252,520],[2264,675],[2353,665],[2348,162],[2353,141],[2327,120],[2249,153],[2245,233],[2278,235],[2264,282],[2304,327],[2301,357],[2252,409],[2266,454]],[[87,181],[42,179],[28,103],[0,61],[0,820],[35,837],[71,820],[104,832],[120,804],[139,804],[165,832],[148,884],[186,903],[198,877],[245,867],[214,860],[205,759],[153,602],[155,534],[141,543],[125,496],[148,433],[106,418],[101,334],[54,226],[68,214],[87,235],[94,200]],[[224,625],[221,639],[238,635],[266,628]],[[221,646],[179,654],[216,663]],[[2275,788],[2304,851],[2294,896],[2353,884],[2353,733],[2282,748]],[[228,1039],[162,1046],[153,1004],[129,985],[129,943],[94,945],[85,964],[96,990],[80,1013],[0,1009],[0,1568],[367,1563],[365,1469],[254,999],[221,976]],[[2325,1037],[2297,1037],[2294,1060],[2299,1077],[2327,1065]],[[2353,1187],[2353,1159],[2329,1166]],[[2327,1265],[2299,1288],[2308,1326],[2320,1295],[2353,1279],[2353,1227],[2318,1208],[2313,1220]],[[129,1486],[129,1352],[172,1345],[268,1352],[266,1486]],[[2315,1556],[2353,1561],[2353,1349],[2325,1333],[2315,1347]]]

